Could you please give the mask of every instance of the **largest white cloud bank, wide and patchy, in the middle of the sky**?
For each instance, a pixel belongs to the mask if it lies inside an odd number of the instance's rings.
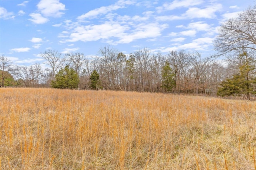
[[[131,19],[132,20],[132,19]],[[162,30],[168,28],[168,24],[144,23],[141,24],[120,24],[118,22],[105,22],[99,25],[78,25],[72,31],[62,32],[58,37],[69,39],[61,40],[66,42],[90,42],[102,40],[102,42],[117,45],[119,43],[130,43],[138,39],[148,39],[155,41],[154,38],[162,35]]]

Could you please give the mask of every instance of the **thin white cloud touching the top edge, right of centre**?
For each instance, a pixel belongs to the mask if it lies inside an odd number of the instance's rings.
[[[156,10],[158,13],[165,10],[174,10],[176,8],[188,8],[190,6],[200,5],[204,0],[174,0],[172,2],[166,2],[163,6],[157,7]]]

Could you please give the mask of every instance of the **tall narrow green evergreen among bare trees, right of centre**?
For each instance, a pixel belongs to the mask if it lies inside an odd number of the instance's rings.
[[[165,61],[162,68],[162,87],[166,91],[172,91],[174,87],[174,74],[168,61]]]

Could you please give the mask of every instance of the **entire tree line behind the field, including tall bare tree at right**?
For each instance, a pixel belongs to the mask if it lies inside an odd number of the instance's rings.
[[[208,93],[219,96],[256,94],[256,6],[224,22],[214,41],[215,55],[185,50],[166,55],[148,48],[124,54],[114,47],[99,49],[86,58],[83,53],[40,53],[39,63],[12,65],[0,57],[0,86],[105,89],[159,93]],[[222,60],[218,60],[222,57]],[[224,59],[223,59],[224,58]]]

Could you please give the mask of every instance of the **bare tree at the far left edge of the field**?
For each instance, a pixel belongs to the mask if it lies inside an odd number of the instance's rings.
[[[10,59],[2,55],[0,57],[0,69],[1,69],[1,84],[0,87],[4,87],[4,79],[9,71],[12,71],[12,62]]]

